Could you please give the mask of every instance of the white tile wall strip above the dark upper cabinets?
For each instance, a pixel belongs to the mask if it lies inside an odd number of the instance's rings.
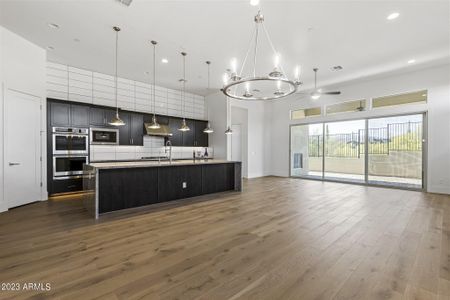
[[[114,77],[67,65],[47,62],[47,97],[115,107]],[[153,113],[152,85],[118,78],[117,99],[119,107],[131,111]],[[155,87],[155,112],[182,117],[181,91]],[[185,117],[205,118],[205,98],[186,93]]]

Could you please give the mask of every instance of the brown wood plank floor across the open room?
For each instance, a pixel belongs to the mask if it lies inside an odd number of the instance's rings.
[[[0,228],[0,282],[51,284],[1,299],[450,299],[444,195],[266,177],[97,222],[41,202]]]

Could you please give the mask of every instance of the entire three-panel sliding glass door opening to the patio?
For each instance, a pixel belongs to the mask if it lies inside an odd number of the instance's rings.
[[[423,188],[423,123],[414,114],[291,126],[291,176]]]

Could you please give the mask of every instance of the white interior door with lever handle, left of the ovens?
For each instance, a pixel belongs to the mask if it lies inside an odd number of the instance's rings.
[[[8,90],[5,97],[5,182],[8,208],[40,200],[40,99]]]

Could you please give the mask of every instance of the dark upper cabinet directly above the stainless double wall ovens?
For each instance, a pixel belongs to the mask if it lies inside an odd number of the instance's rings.
[[[89,107],[85,105],[49,102],[50,123],[60,127],[89,127]]]

